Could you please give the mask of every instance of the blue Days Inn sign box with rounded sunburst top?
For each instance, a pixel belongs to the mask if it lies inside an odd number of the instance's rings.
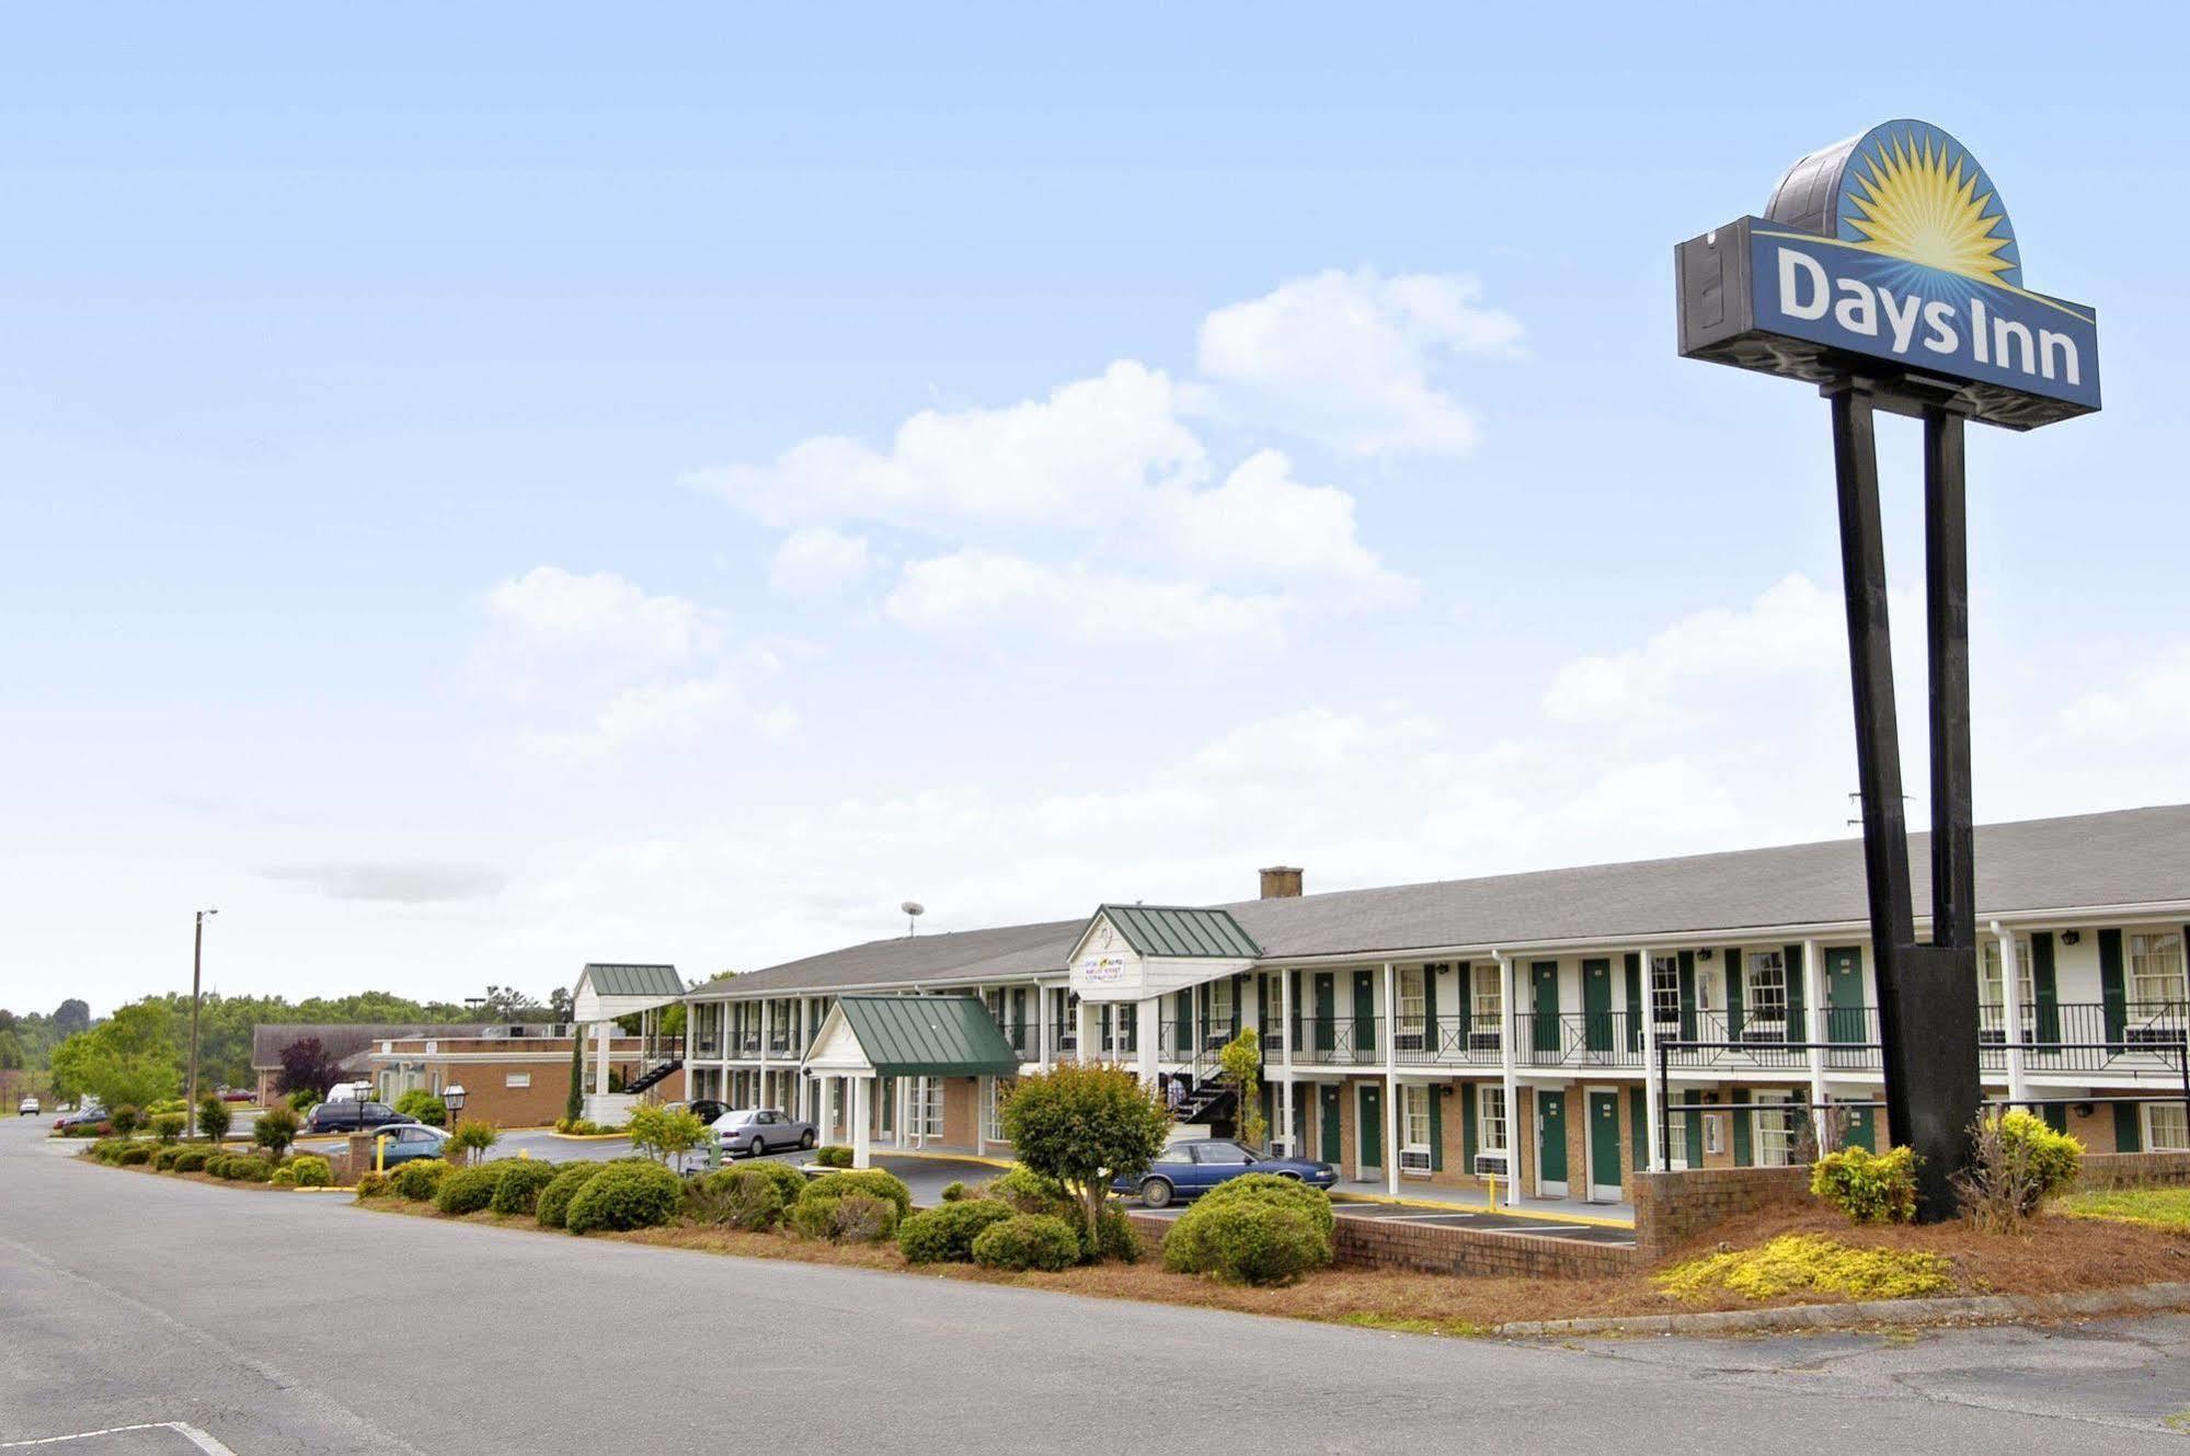
[[[2032,429],[2098,409],[2098,317],[2024,287],[1999,190],[1958,140],[1890,120],[1787,169],[1763,217],[1675,250],[1680,353],[1862,377]]]

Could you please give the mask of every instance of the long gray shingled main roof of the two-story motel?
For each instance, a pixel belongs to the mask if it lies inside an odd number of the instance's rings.
[[[1916,913],[1925,915],[1932,904],[1927,834],[1910,836],[1910,874]],[[2155,900],[2190,900],[2190,806],[1978,828],[1980,917]],[[1868,917],[1859,839],[1211,909],[1231,911],[1268,961],[1434,946],[1526,948],[1592,937],[1634,941]],[[745,996],[1062,974],[1084,926],[1080,917],[867,941],[753,970],[727,985]]]

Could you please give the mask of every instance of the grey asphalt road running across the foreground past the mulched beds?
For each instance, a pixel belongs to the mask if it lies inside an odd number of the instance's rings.
[[[0,1125],[0,1452],[2072,1456],[2179,1452],[2190,1408],[2190,1320],[1437,1340],[364,1213],[39,1132]]]

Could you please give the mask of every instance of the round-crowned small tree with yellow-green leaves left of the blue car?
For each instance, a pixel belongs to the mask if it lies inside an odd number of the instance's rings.
[[[1130,1071],[1067,1062],[1021,1077],[1003,1103],[1003,1136],[1025,1167],[1064,1185],[1093,1241],[1110,1180],[1148,1171],[1172,1136],[1172,1114]]]

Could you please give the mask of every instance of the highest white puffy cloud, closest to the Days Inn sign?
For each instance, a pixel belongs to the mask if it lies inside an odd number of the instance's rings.
[[[1229,407],[1349,453],[1463,455],[1476,420],[1439,377],[1522,333],[1480,296],[1465,274],[1327,269],[1202,320],[1200,370]]]

